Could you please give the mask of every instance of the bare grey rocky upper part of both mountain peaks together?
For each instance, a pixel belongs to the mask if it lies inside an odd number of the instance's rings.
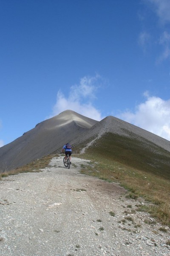
[[[140,143],[152,142],[170,151],[170,141],[131,125],[113,116],[107,116],[100,122],[71,110],[40,122],[23,136],[0,148],[0,172],[23,166],[31,161],[60,152],[65,143],[79,145],[85,141],[99,139],[106,133],[130,137]]]

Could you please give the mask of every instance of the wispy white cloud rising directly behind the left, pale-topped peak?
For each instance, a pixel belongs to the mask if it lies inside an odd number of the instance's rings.
[[[61,90],[57,93],[57,101],[53,108],[51,116],[56,116],[62,111],[70,109],[83,116],[95,120],[101,120],[102,116],[99,110],[97,110],[92,101],[95,96],[96,90],[99,88],[101,77],[96,75],[94,77],[85,76],[80,79],[80,83],[71,86],[68,96],[65,96]]]

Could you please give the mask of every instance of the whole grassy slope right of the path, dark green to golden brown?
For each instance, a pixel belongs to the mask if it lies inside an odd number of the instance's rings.
[[[143,196],[153,203],[146,210],[170,225],[170,152],[140,137],[107,133],[83,157],[94,167],[82,173],[119,182],[131,197]]]

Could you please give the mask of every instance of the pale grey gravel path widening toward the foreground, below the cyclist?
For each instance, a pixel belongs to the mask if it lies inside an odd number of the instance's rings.
[[[68,170],[63,157],[54,157],[42,172],[0,181],[0,255],[170,256],[170,230],[135,211],[142,200],[80,174],[88,160],[72,157],[72,163]]]

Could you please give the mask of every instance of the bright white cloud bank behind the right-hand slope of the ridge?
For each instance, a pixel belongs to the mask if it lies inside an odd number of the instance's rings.
[[[148,93],[145,93],[147,96]],[[144,103],[136,107],[136,111],[125,111],[118,116],[133,125],[150,131],[170,140],[170,99],[147,96]]]

